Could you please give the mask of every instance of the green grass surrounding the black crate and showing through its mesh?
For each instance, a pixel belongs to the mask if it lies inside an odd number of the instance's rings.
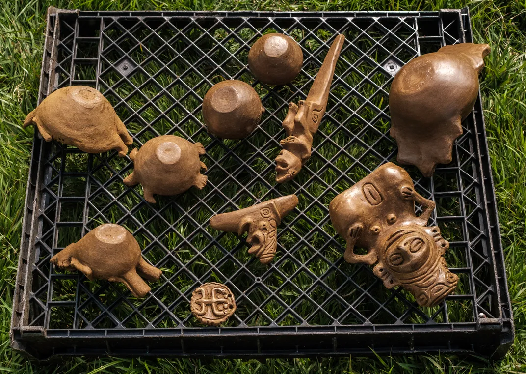
[[[522,1],[382,1],[382,0],[346,0],[335,2],[234,2],[225,1],[195,1],[195,2],[159,2],[154,0],[136,0],[131,2],[99,0],[99,1],[59,1],[53,4],[46,2],[27,1],[12,2],[0,0],[0,242],[2,255],[0,256],[0,269],[2,278],[0,279],[0,300],[2,309],[0,310],[0,369],[30,373],[96,373],[96,372],[225,372],[225,373],[248,373],[248,372],[414,372],[414,373],[481,373],[481,372],[526,372],[526,345],[524,343],[526,321],[524,320],[526,311],[526,284],[524,283],[525,251],[526,251],[526,140],[524,134],[524,118],[526,118],[526,84],[524,76],[526,73],[526,63],[524,55],[524,41],[526,40],[526,2]],[[99,359],[75,358],[64,361],[50,363],[49,365],[38,367],[31,362],[13,352],[9,348],[9,322],[11,319],[12,294],[14,289],[16,265],[18,260],[19,241],[21,236],[21,225],[23,207],[25,200],[25,189],[28,175],[29,157],[31,153],[32,132],[22,130],[22,122],[26,113],[31,111],[36,103],[39,73],[42,57],[43,32],[45,27],[45,12],[49,5],[60,8],[81,8],[97,10],[244,10],[244,9],[264,9],[276,11],[331,11],[331,10],[438,10],[440,8],[460,8],[469,6],[471,12],[474,37],[476,42],[489,43],[492,47],[491,54],[486,58],[486,68],[481,78],[481,91],[483,96],[484,116],[486,121],[487,133],[489,137],[489,147],[493,179],[498,199],[499,219],[503,247],[508,271],[508,284],[514,312],[516,338],[512,349],[508,355],[499,362],[489,362],[480,358],[459,358],[456,356],[431,356],[422,355],[418,357],[376,357],[376,358],[333,358],[333,359],[289,359],[289,360],[165,360],[165,359],[114,359],[101,357]],[[220,37],[218,35],[217,37]],[[87,53],[89,51],[86,49]],[[169,58],[167,56],[166,58]],[[174,71],[181,68],[181,64],[174,66]],[[235,72],[236,66],[230,67]],[[89,76],[93,74],[90,67],[80,71],[81,74]],[[79,76],[82,78],[82,76]],[[110,79],[111,77],[108,77]],[[169,76],[164,77],[166,82]],[[140,77],[137,77],[140,80]],[[138,83],[142,83],[137,81]],[[215,82],[214,82],[215,83]],[[203,94],[207,87],[203,87]],[[122,87],[123,92],[119,95],[126,95],[126,87]],[[155,94],[156,88],[145,90],[149,94]],[[179,99],[184,94],[183,91],[174,90],[171,95]],[[199,94],[199,93],[198,93]],[[152,96],[153,97],[153,96]],[[143,99],[144,100],[144,99]],[[133,103],[141,105],[138,98]],[[382,102],[376,103],[378,106],[384,105]],[[169,101],[160,102],[158,107],[161,110],[167,109]],[[187,105],[194,105],[190,101]],[[352,106],[353,103],[348,103]],[[119,113],[126,116],[126,113]],[[143,112],[143,118],[148,120],[155,113]],[[174,111],[171,120],[177,121],[177,112]],[[366,114],[364,114],[366,115]],[[346,114],[341,113],[341,118],[345,119]],[[352,126],[353,124],[350,123]],[[166,132],[167,124],[159,124],[159,132]],[[279,124],[278,124],[279,126]],[[359,126],[357,123],[356,126]],[[382,126],[382,124],[378,124]],[[389,126],[384,123],[383,126]],[[137,132],[139,127],[130,131]],[[187,131],[193,133],[195,127],[188,125]],[[279,130],[279,127],[275,129]],[[186,131],[186,130],[185,130]],[[321,129],[323,131],[323,129]],[[144,134],[140,137],[141,141],[148,139],[151,135]],[[345,141],[345,140],[342,140]],[[386,145],[387,146],[387,145]],[[387,149],[386,149],[387,151]],[[241,150],[240,150],[241,152]],[[331,150],[323,147],[320,152],[330,156]],[[350,149],[351,155],[359,154],[359,149]],[[242,153],[240,153],[242,154]],[[275,154],[274,150],[269,150],[270,158]],[[217,156],[220,156],[218,151]],[[86,160],[82,155],[72,155],[72,165],[79,168]],[[228,160],[226,160],[228,161]],[[225,168],[234,167],[234,164],[225,162]],[[345,165],[343,162],[342,165]],[[116,164],[115,167],[119,165]],[[259,165],[255,167],[264,167]],[[318,166],[316,160],[312,160],[312,168],[316,170]],[[213,170],[211,170],[213,171]],[[101,179],[107,178],[101,170]],[[351,170],[356,173],[356,177],[363,171]],[[210,175],[210,174],[209,174]],[[219,178],[219,173],[217,178]],[[301,175],[299,176],[301,177]],[[211,178],[211,177],[210,177]],[[324,178],[332,178],[330,174]],[[80,183],[77,185],[76,183]],[[69,188],[82,191],[83,181],[72,180]],[[118,186],[115,186],[118,189]],[[322,185],[311,185],[310,193],[319,193]],[[341,186],[344,188],[344,186]],[[118,192],[119,190],[115,190]],[[228,191],[232,193],[232,191]],[[265,193],[264,190],[253,191],[256,195]],[[132,196],[133,197],[133,196]],[[125,201],[125,204],[133,206],[134,201]],[[188,204],[191,201],[187,202]],[[100,201],[104,204],[104,201]],[[162,202],[161,202],[162,204]],[[239,204],[250,204],[249,201],[239,201]],[[162,206],[162,205],[161,205]],[[169,207],[168,207],[169,208]],[[167,209],[168,209],[167,208]],[[448,207],[449,208],[449,207]],[[64,208],[63,208],[64,209]],[[442,208],[443,209],[443,208]],[[453,208],[451,208],[453,209]],[[68,209],[70,214],[78,214],[78,209],[74,206]],[[448,211],[450,212],[450,211]],[[444,212],[444,213],[448,213]],[[143,215],[144,214],[144,217]],[[146,220],[151,212],[141,211],[137,214],[138,219]],[[166,212],[177,214],[177,212]],[[204,213],[196,212],[196,220],[203,220]],[[319,211],[310,213],[312,218],[321,216]],[[451,214],[451,213],[450,213]],[[108,213],[114,219],[120,218],[118,210]],[[93,218],[93,225],[96,225],[96,217]],[[206,220],[206,219],[205,219]],[[131,227],[130,227],[131,228]],[[454,232],[454,228],[447,228]],[[185,234],[190,230],[188,227],[177,227],[179,233]],[[74,238],[76,233],[70,233]],[[70,241],[68,235],[60,239],[67,243]],[[167,235],[167,247],[177,245],[178,237],[175,234]],[[233,236],[224,237],[226,248],[234,248],[237,239]],[[284,237],[284,247],[294,242],[294,237]],[[313,240],[316,240],[313,239]],[[318,238],[319,240],[319,238]],[[196,243],[196,247],[204,245]],[[208,251],[210,252],[210,251]],[[209,261],[215,261],[214,256],[220,254],[209,253]],[[246,261],[243,257],[245,251],[238,251],[240,261]],[[151,252],[152,259],[155,252]],[[179,259],[187,261],[191,253],[179,252]],[[301,253],[297,253],[298,259],[302,260]],[[335,256],[338,253],[334,254]],[[456,261],[448,258],[448,262]],[[461,260],[458,260],[461,261]],[[203,272],[203,264],[197,263],[194,271]],[[174,273],[173,269],[166,267],[165,273]],[[284,265],[284,272],[294,270],[294,263]],[[311,271],[323,271],[323,264],[318,263],[318,268],[312,267]],[[184,282],[184,280],[180,280]],[[364,280],[366,281],[366,280]],[[308,280],[301,283],[306,284]],[[270,284],[270,283],[269,283]],[[65,284],[65,287],[67,285]],[[88,287],[96,287],[96,284],[88,284]],[[181,284],[182,287],[188,287]],[[169,298],[170,296],[167,296]],[[290,294],[284,294],[284,298]],[[322,296],[320,296],[322,297]],[[145,313],[148,313],[145,308]],[[269,310],[269,313],[272,309]],[[459,311],[460,313],[461,311]],[[287,322],[287,321],[285,321]],[[415,321],[418,323],[417,321]],[[62,321],[61,321],[62,323]],[[104,323],[102,321],[101,323]],[[130,320],[130,324],[141,323],[141,319]],[[259,322],[252,323],[259,324]],[[137,325],[138,326],[138,325]]]

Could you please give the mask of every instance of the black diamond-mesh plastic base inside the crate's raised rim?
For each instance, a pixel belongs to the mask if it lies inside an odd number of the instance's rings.
[[[417,191],[437,202],[438,224],[451,248],[446,260],[459,275],[456,294],[419,308],[401,288],[387,290],[372,268],[347,264],[328,203],[382,163],[395,161],[388,92],[392,73],[420,53],[462,41],[459,18],[428,16],[252,17],[85,16],[59,20],[56,81],[52,90],[96,87],[115,106],[134,146],[175,134],[206,146],[208,184],[202,191],[158,196],[151,205],[123,178],[133,164],[115,152],[87,155],[43,144],[38,232],[28,326],[53,329],[200,327],[191,316],[191,292],[201,283],[225,283],[238,309],[229,328],[363,326],[478,322],[498,318],[498,295],[477,155],[473,116],[453,148],[453,162],[421,178],[406,168]],[[262,34],[295,38],[304,66],[287,86],[259,83],[248,70],[250,45]],[[311,159],[297,178],[276,185],[274,159],[285,136],[281,121],[290,101],[305,99],[330,43],[346,35],[327,113]],[[213,84],[236,78],[251,84],[266,108],[258,129],[242,141],[207,134],[201,102]],[[130,148],[131,149],[131,148]],[[275,260],[261,265],[235,234],[208,227],[210,216],[279,195],[299,205],[278,228]],[[144,257],[163,270],[145,299],[120,284],[90,282],[53,269],[49,259],[105,222],[124,225]]]

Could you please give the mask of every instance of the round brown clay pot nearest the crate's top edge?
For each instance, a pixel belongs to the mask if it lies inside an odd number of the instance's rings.
[[[303,52],[294,39],[284,34],[261,36],[248,52],[250,71],[265,84],[294,81],[303,65]]]

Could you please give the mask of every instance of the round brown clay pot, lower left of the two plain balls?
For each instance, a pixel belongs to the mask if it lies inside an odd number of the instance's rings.
[[[259,124],[265,108],[249,84],[222,81],[215,84],[203,100],[203,119],[210,134],[221,139],[243,139]]]

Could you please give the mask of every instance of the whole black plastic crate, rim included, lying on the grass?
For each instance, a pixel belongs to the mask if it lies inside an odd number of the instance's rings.
[[[247,67],[264,33],[296,38],[304,67],[290,85],[268,87]],[[305,99],[335,35],[346,42],[311,159],[297,178],[274,181],[288,103]],[[135,146],[170,133],[206,146],[208,184],[151,205],[122,183],[133,164],[116,152],[88,155],[34,140],[12,343],[52,355],[231,356],[370,355],[456,352],[501,357],[513,341],[495,196],[480,96],[463,122],[453,162],[433,178],[406,168],[437,203],[446,253],[460,281],[454,295],[420,308],[401,288],[387,290],[372,267],[347,264],[328,216],[339,192],[395,161],[388,91],[411,58],[472,40],[467,9],[441,12],[79,12],[50,8],[39,102],[57,88],[98,88],[133,134]],[[260,94],[266,112],[242,141],[219,141],[203,126],[208,88],[228,78]],[[130,148],[131,149],[131,148]],[[269,265],[235,234],[211,229],[215,213],[296,193]],[[49,259],[100,223],[123,224],[144,257],[163,269],[145,299],[122,284],[89,281]],[[200,326],[191,292],[219,281],[237,311],[224,327]]]

